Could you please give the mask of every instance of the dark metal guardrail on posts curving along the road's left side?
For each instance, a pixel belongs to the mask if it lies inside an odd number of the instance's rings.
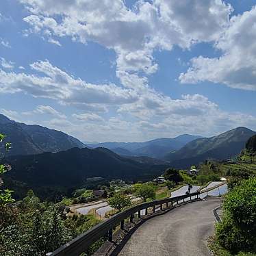
[[[155,212],[155,207],[160,205],[160,209],[163,209],[163,205],[166,204],[166,207],[170,207],[174,205],[176,202],[179,204],[180,201],[185,202],[185,199],[190,198],[190,201],[192,200],[192,197],[194,196],[195,199],[199,198],[200,192],[194,192],[191,194],[184,194],[182,196],[176,196],[168,199],[162,199],[157,201],[151,201],[149,203],[142,203],[140,205],[135,205],[129,209],[126,209],[123,212],[120,212],[112,218],[105,220],[104,222],[101,222],[99,225],[92,227],[92,229],[86,231],[85,233],[82,233],[77,238],[73,239],[71,242],[68,242],[61,246],[60,248],[57,248],[56,251],[53,253],[49,253],[51,256],[77,256],[83,253],[88,249],[90,245],[92,245],[94,242],[97,242],[100,238],[102,238],[104,235],[107,234],[108,240],[112,241],[112,234],[113,229],[120,223],[120,229],[124,229],[125,219],[130,218],[130,222],[133,222],[134,214],[138,212],[138,218],[140,218],[142,210],[145,209],[145,215],[148,214],[148,208],[153,207],[153,212]],[[169,205],[170,204],[170,205]]]

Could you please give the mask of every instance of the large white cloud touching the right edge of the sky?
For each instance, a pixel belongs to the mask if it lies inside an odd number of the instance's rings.
[[[179,77],[181,83],[211,81],[245,90],[256,90],[256,8],[233,16],[215,46],[220,57],[195,57]]]

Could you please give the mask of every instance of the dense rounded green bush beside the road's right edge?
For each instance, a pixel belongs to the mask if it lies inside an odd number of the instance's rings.
[[[223,203],[223,221],[217,225],[218,242],[230,251],[256,250],[256,177],[231,190]]]

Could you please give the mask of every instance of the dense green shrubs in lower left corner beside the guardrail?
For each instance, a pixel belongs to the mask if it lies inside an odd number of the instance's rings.
[[[33,191],[18,205],[0,212],[0,255],[45,255],[71,240],[76,233],[66,227],[62,205],[40,203]]]

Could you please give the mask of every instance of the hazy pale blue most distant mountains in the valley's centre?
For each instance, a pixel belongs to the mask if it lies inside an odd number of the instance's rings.
[[[188,142],[198,138],[202,137],[183,134],[176,138],[158,138],[146,142],[103,142],[87,144],[87,146],[91,148],[105,147],[120,155],[147,156],[161,159],[166,153],[181,149]]]

